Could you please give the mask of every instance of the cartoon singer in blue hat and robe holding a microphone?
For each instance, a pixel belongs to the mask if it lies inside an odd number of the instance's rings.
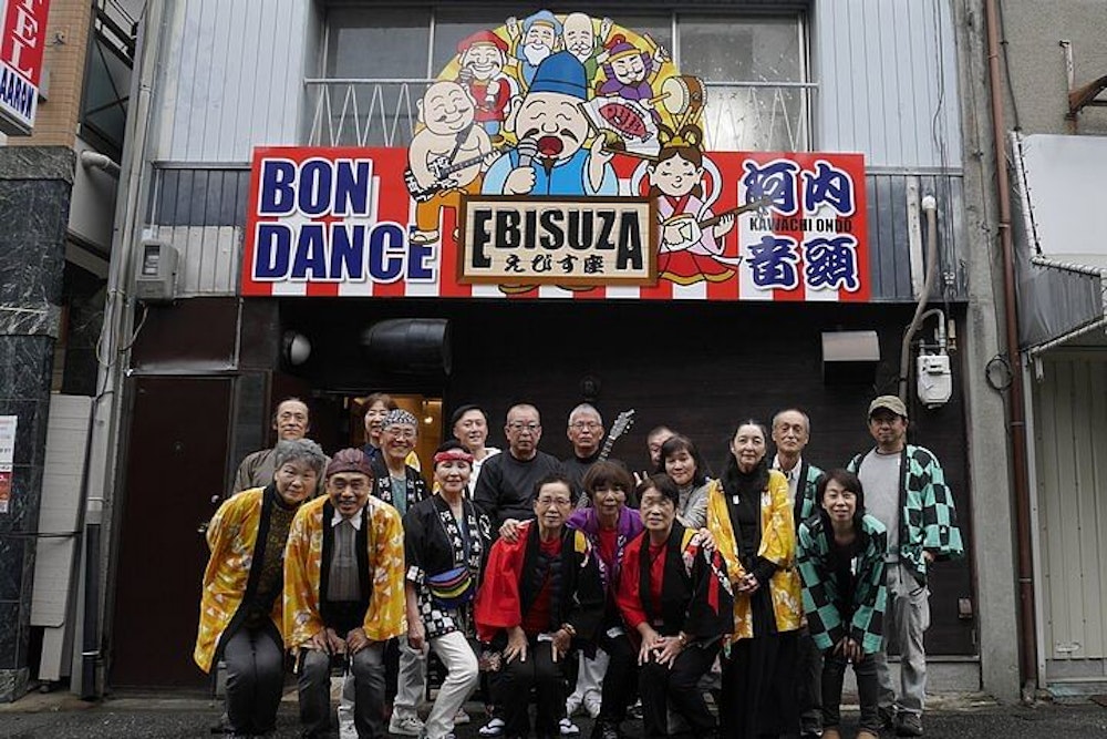
[[[521,100],[514,101],[505,129],[518,147],[501,155],[485,175],[482,192],[493,195],[618,195],[619,183],[603,136],[584,147],[590,124],[580,104],[588,99],[584,66],[568,51],[538,65]]]

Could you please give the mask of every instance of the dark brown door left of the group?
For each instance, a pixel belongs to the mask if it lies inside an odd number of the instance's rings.
[[[111,643],[114,686],[203,686],[193,663],[207,544],[224,489],[230,378],[134,381]]]

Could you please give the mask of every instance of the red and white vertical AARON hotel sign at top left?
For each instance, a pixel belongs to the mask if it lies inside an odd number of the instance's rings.
[[[0,130],[9,135],[34,127],[49,10],[49,0],[0,2]]]

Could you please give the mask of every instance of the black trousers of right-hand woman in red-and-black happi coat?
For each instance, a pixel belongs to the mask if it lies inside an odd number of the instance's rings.
[[[706,647],[690,645],[677,655],[672,667],[651,659],[639,668],[642,736],[646,739],[669,736],[669,704],[689,722],[693,737],[707,737],[714,732],[715,718],[703,700],[700,678],[711,669],[717,654],[717,642]]]

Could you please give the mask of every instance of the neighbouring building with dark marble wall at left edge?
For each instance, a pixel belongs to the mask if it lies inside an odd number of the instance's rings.
[[[0,134],[0,700],[71,670],[135,4],[4,4],[6,110],[12,69],[41,64],[27,125]]]

